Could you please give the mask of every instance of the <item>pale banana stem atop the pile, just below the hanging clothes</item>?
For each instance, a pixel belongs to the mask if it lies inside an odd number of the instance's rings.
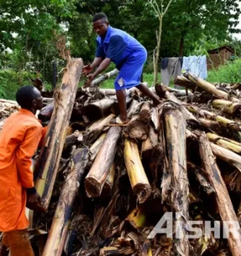
[[[185,72],[184,76],[185,78],[188,78],[192,82],[196,83],[196,85],[201,87],[204,91],[208,91],[211,94],[215,95],[215,97],[218,97],[220,99],[231,100],[232,102],[240,102],[240,99],[238,99],[237,97],[232,97],[225,91],[216,89],[216,87],[212,83],[209,83],[203,80],[202,78],[198,78],[195,75],[191,75],[188,72]]]

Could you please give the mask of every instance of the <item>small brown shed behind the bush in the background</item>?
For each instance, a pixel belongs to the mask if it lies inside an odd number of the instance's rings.
[[[225,45],[220,48],[208,50],[207,53],[209,54],[209,57],[207,57],[207,69],[213,69],[229,61],[234,55],[234,49],[229,45]]]

